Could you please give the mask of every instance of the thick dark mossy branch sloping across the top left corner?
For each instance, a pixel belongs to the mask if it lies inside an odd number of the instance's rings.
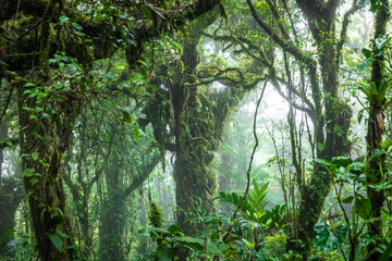
[[[124,41],[124,37],[128,40],[135,42],[135,45],[128,45],[127,53],[132,55],[128,59],[131,65],[136,62],[140,54],[142,44],[150,38],[155,38],[161,35],[162,30],[172,30],[173,28],[177,28],[184,25],[187,21],[195,20],[196,17],[205,14],[209,10],[211,10],[215,5],[217,5],[220,0],[195,0],[192,3],[185,4],[181,8],[172,9],[172,10],[162,10],[161,15],[157,15],[155,13],[154,23],[150,20],[143,21],[143,13],[140,12],[140,3],[139,5],[132,5],[127,10],[130,15],[135,16],[136,21],[143,22],[128,22],[122,21],[119,18],[119,22],[101,22],[95,18],[86,17],[81,11],[73,9],[69,2],[64,3],[63,11],[57,10],[56,14],[52,16],[52,23],[59,22],[59,16],[64,15],[70,17],[71,21],[75,21],[77,24],[82,26],[81,33],[85,35],[86,39],[91,39],[93,45],[96,47],[94,50],[94,55],[96,59],[102,59],[110,57],[117,47],[121,46],[121,42]],[[0,4],[2,4],[3,10],[0,11],[0,22],[4,22],[13,17],[14,13],[17,10],[17,1],[8,1],[0,0]],[[44,16],[44,12],[47,9],[48,1],[47,0],[22,0],[21,2],[21,12],[24,12],[26,15],[33,15],[32,22],[36,23]],[[149,4],[144,4],[154,10],[160,10]],[[169,21],[169,22],[168,22]],[[168,26],[168,23],[171,26]],[[39,23],[37,23],[39,24]],[[126,27],[126,32],[124,32],[124,27]],[[1,35],[4,32],[0,28]],[[32,32],[33,34],[33,32]],[[32,37],[17,37],[19,40],[14,41],[13,39],[8,39],[7,46],[9,46],[10,50],[13,50],[17,53],[7,53],[7,58],[4,59],[4,63],[9,65],[8,70],[10,71],[24,71],[29,70],[26,66],[32,64],[32,61],[37,59],[35,55],[34,40]],[[82,48],[78,50],[74,48],[74,42],[72,39],[65,39],[66,54],[71,57],[81,57],[85,54],[85,50]],[[52,45],[53,50],[51,53],[58,51],[57,45]],[[77,52],[77,53],[75,53]],[[78,53],[78,52],[84,52]]]

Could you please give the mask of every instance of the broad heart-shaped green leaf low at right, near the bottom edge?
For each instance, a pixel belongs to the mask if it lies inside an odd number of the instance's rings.
[[[344,243],[348,226],[339,226],[330,231],[329,225],[322,222],[317,223],[314,229],[316,232],[314,238],[315,246],[317,246],[321,252],[332,252],[339,249]]]

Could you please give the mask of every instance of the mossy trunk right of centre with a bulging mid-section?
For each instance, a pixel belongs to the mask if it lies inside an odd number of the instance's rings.
[[[335,8],[315,7],[309,12],[309,1],[297,1],[307,16],[310,30],[319,47],[319,64],[324,97],[324,117],[317,115],[315,136],[317,157],[331,160],[334,156],[345,156],[350,151],[348,129],[351,108],[339,98],[339,62],[336,61]],[[318,2],[318,1],[310,1]],[[332,3],[332,2],[331,2]],[[321,94],[319,94],[321,96]],[[319,112],[321,113],[321,112]],[[324,129],[326,134],[322,134]],[[298,238],[307,244],[314,237],[314,226],[321,214],[324,200],[330,192],[332,176],[328,170],[315,162],[314,173],[301,194],[298,214]],[[309,246],[309,245],[306,245]]]

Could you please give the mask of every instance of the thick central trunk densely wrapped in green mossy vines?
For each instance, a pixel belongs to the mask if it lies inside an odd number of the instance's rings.
[[[198,28],[199,29],[199,28]],[[197,235],[200,226],[195,217],[213,212],[213,196],[218,188],[215,152],[223,139],[231,110],[245,91],[241,86],[211,90],[195,84],[199,63],[200,35],[193,34],[176,63],[177,75],[170,86],[174,116],[176,214],[185,234]],[[177,69],[184,67],[183,71]]]

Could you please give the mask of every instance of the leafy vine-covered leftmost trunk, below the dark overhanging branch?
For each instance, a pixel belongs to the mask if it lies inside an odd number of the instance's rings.
[[[36,121],[28,108],[37,98],[27,98],[17,87],[22,176],[27,195],[33,229],[41,260],[72,260],[72,229],[60,174],[62,156],[70,146],[78,102],[53,97],[58,112]],[[61,234],[60,234],[61,233]]]

